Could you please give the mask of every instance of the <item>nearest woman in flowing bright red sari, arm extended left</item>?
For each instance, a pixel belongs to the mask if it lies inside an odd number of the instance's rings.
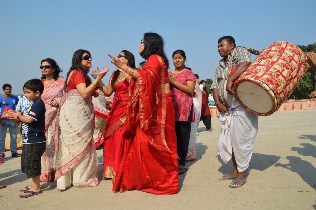
[[[123,132],[129,141],[113,191],[137,189],[157,195],[178,192],[174,109],[163,46],[158,34],[144,34],[139,53],[147,63],[141,71],[109,55],[126,78],[133,77]]]

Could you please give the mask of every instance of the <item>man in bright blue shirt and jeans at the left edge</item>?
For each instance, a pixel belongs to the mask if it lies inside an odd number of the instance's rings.
[[[12,87],[9,84],[4,84],[2,86],[4,95],[0,97],[1,103],[1,115],[3,114],[4,107],[8,107],[9,109],[15,110],[17,103],[19,102],[18,97],[11,95]],[[21,154],[17,153],[16,148],[16,136],[17,136],[17,124],[13,120],[8,120],[6,118],[0,119],[0,149],[2,155],[4,157],[4,144],[5,144],[5,136],[7,134],[7,130],[9,127],[10,133],[10,150],[12,157],[21,157]],[[0,154],[1,155],[1,154]]]

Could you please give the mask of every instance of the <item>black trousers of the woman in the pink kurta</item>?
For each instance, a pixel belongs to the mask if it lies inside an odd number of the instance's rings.
[[[175,122],[175,130],[176,130],[176,136],[177,136],[177,152],[180,158],[179,165],[185,165],[185,158],[186,158],[186,155],[188,154],[191,123],[192,123],[192,110],[193,110],[193,106],[191,106],[188,122],[186,121]]]

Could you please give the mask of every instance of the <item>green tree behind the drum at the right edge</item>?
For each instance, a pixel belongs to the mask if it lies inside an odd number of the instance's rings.
[[[310,45],[298,45],[303,52],[316,52],[316,43]],[[314,91],[315,88],[315,71],[307,69],[305,75],[301,79],[300,84],[296,87],[289,99],[308,99],[308,95]]]

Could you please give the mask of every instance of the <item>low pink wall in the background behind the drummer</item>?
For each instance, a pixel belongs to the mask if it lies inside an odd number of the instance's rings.
[[[277,111],[316,109],[316,99],[288,100]],[[210,107],[211,117],[219,115],[216,106]]]

